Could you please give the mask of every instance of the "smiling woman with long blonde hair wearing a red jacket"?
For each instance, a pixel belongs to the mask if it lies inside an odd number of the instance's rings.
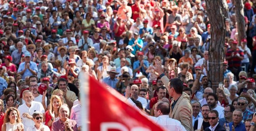
[[[62,100],[59,96],[52,95],[49,105],[50,105],[50,109],[45,112],[45,125],[47,125],[50,128],[50,130],[52,130],[52,123],[54,121],[59,120],[58,114],[59,114],[59,108],[62,106]]]

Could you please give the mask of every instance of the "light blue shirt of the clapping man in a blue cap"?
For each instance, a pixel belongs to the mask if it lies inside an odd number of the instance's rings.
[[[38,68],[35,62],[30,61],[29,62],[29,67],[31,70],[35,71],[36,73],[38,72]],[[18,73],[23,71],[25,69],[25,62],[22,62],[19,65],[19,69],[18,69]],[[24,74],[22,74],[22,79],[24,80],[26,76],[32,76],[33,74],[31,73],[31,71],[29,71],[28,69],[26,69],[26,71],[24,72]]]

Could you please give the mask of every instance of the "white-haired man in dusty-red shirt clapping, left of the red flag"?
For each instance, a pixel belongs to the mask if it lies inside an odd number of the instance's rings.
[[[66,105],[62,105],[59,108],[58,121],[52,123],[52,131],[78,131],[75,120],[69,119],[69,108]]]

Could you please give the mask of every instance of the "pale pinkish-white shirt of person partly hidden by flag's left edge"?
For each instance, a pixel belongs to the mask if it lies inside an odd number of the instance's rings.
[[[70,119],[75,120],[78,127],[82,124],[81,109],[81,104],[77,104],[71,108],[70,112]]]

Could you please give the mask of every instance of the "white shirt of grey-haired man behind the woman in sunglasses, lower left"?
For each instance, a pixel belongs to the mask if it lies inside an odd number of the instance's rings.
[[[42,103],[36,101],[31,102],[31,107],[28,107],[26,103],[23,103],[21,106],[18,107],[18,110],[22,119],[22,124],[24,125],[24,131],[27,131],[29,127],[32,128],[35,123],[31,119],[22,117],[22,114],[28,113],[30,116],[32,116],[35,111],[40,111],[42,114],[45,113],[45,109],[43,109]]]

